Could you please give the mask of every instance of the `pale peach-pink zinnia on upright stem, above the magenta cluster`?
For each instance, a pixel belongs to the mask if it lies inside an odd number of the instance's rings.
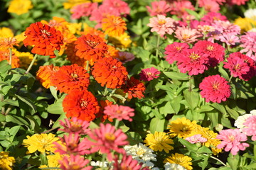
[[[174,33],[174,22],[173,18],[157,15],[157,17],[150,18],[146,26],[151,27],[151,32],[156,31],[156,33],[163,37],[166,33],[169,35]]]

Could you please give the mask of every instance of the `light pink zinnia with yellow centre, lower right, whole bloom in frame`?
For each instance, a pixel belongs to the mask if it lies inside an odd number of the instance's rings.
[[[239,129],[221,130],[220,135],[217,135],[216,138],[222,140],[217,146],[218,149],[225,147],[225,152],[230,151],[233,155],[238,154],[238,151],[245,150],[245,147],[250,146],[247,143],[241,143],[247,140],[247,136],[241,133]]]

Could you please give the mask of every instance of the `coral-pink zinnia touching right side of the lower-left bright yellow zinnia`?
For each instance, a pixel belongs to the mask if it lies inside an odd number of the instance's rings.
[[[53,142],[55,144],[55,152],[60,154],[90,154],[90,145],[85,145],[85,142],[80,142],[80,136],[78,133],[64,135],[60,138],[61,143]],[[84,140],[82,140],[84,141]]]

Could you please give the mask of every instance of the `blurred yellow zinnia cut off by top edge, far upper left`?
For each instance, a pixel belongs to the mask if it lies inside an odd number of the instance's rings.
[[[27,13],[31,8],[33,8],[33,5],[30,0],[12,0],[8,12],[21,15]]]

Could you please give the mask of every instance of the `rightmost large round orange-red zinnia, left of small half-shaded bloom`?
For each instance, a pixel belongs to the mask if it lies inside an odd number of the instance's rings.
[[[92,67],[92,76],[95,80],[110,89],[117,89],[127,80],[127,69],[112,57],[105,57]]]

